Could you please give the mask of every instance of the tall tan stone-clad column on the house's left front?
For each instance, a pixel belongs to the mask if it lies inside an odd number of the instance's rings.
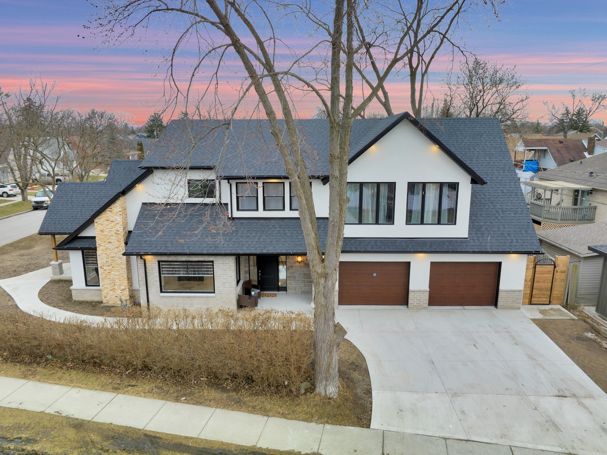
[[[120,305],[121,297],[134,301],[131,259],[122,255],[127,233],[123,196],[95,219],[97,265],[104,304]]]

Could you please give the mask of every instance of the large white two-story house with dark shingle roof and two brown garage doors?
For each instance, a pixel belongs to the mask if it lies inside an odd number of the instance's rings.
[[[324,248],[328,123],[300,128]],[[358,119],[348,182],[336,304],[520,307],[540,246],[497,119]],[[67,234],[56,248],[69,251],[75,299],[235,308],[250,279],[311,301],[297,200],[267,121],[171,121],[143,161],[59,185],[39,233]]]

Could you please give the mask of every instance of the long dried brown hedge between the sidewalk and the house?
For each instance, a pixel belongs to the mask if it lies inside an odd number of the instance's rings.
[[[144,311],[103,324],[56,323],[5,312],[0,354],[149,372],[167,379],[236,382],[272,392],[311,381],[313,321],[276,310]]]

